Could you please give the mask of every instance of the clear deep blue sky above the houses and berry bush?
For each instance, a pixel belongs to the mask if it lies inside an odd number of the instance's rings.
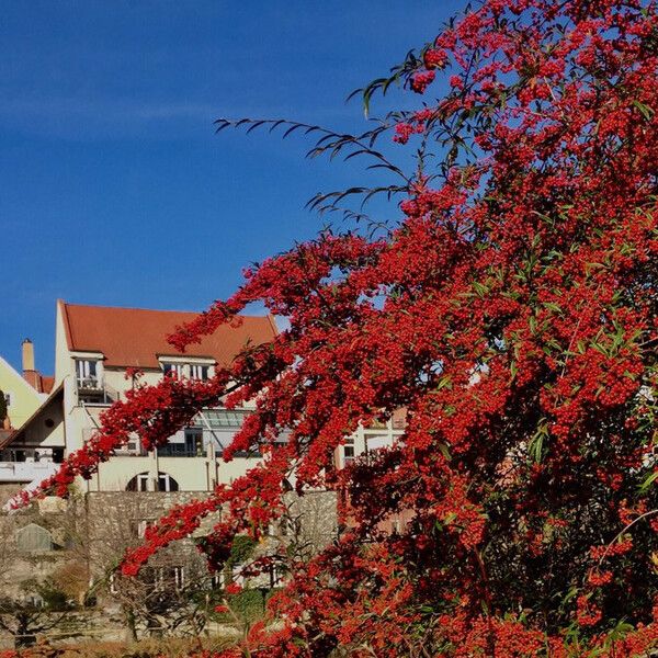
[[[5,2],[0,354],[18,367],[30,337],[48,373],[57,298],[201,310],[313,237],[325,220],[304,204],[359,184],[359,164],[308,161],[300,138],[216,136],[213,120],[363,129],[347,94],[464,4]]]

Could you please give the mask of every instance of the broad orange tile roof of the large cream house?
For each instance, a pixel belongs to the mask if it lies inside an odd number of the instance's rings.
[[[180,354],[167,342],[178,325],[198,314],[177,310],[147,310],[82,306],[59,302],[68,348],[79,352],[101,352],[107,367],[159,367],[158,356]],[[262,344],[276,336],[271,316],[241,316],[241,326],[224,325],[201,344],[192,344],[186,354],[214,359],[228,365],[248,342]]]

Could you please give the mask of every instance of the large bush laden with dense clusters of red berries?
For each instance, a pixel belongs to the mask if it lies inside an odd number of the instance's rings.
[[[225,456],[259,444],[262,466],[173,510],[124,567],[226,508],[203,544],[222,565],[236,533],[258,536],[281,513],[293,470],[299,489],[338,490],[344,532],[296,566],[270,602],[280,624],[253,626],[250,655],[648,651],[657,66],[654,0],[467,11],[363,92],[370,102],[401,82],[424,93],[421,110],[356,137],[324,132],[315,149],[360,151],[397,177],[383,191],[406,193],[399,223],[375,237],[325,232],[247,272],[172,343],[238,321],[253,302],[290,327],[211,383],[137,389],[47,488],[65,492],[132,432],[151,446],[222,396],[257,399]],[[430,100],[439,81],[447,91]],[[418,147],[411,174],[375,150],[390,132]],[[359,423],[400,408],[395,446],[332,467]],[[398,512],[409,523],[384,532]]]

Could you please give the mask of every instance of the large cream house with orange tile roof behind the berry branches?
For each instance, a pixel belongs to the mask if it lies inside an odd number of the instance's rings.
[[[140,382],[146,384],[157,384],[171,372],[206,379],[216,366],[228,365],[245,345],[262,344],[276,336],[271,317],[245,316],[239,327],[220,327],[180,354],[166,336],[194,317],[194,313],[59,300],[54,387],[37,412],[14,433],[5,452],[59,463],[100,427],[103,410],[133,387],[132,370],[141,371]],[[229,464],[218,458],[247,412],[204,410],[158,450],[145,451],[135,438],[81,486],[86,492],[211,491],[217,483],[232,481],[256,463],[252,455]]]

